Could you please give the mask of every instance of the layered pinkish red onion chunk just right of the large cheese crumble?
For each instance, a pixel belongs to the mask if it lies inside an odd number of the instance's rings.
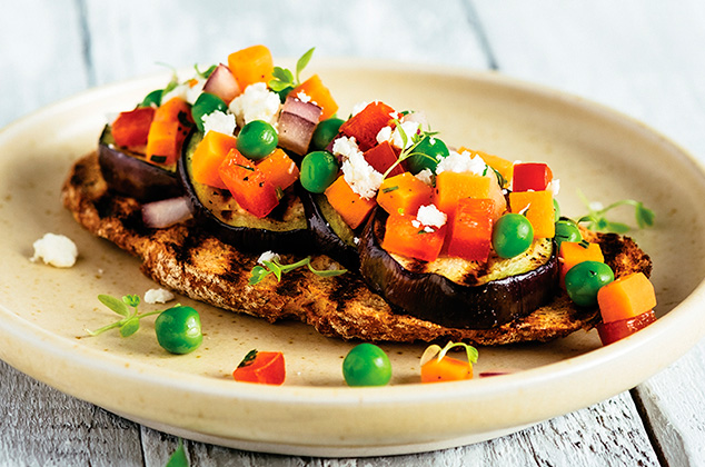
[[[321,112],[322,109],[312,102],[304,102],[295,96],[287,97],[279,113],[279,146],[304,156]]]

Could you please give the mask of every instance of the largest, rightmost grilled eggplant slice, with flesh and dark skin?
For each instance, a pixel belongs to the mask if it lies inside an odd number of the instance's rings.
[[[440,257],[433,262],[381,248],[387,213],[376,208],[360,239],[360,271],[396,311],[450,328],[490,329],[527,316],[556,294],[558,262],[552,239],[512,259],[486,264]]]

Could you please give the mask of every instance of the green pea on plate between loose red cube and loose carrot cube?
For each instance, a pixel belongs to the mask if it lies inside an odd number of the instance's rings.
[[[345,357],[342,377],[348,386],[385,386],[391,379],[391,362],[376,345],[360,344]]]

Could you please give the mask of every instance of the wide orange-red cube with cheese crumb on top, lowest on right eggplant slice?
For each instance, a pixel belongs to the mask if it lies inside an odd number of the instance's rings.
[[[446,225],[440,228],[424,227],[416,216],[390,215],[381,248],[409,258],[434,261],[440,254],[445,236]]]

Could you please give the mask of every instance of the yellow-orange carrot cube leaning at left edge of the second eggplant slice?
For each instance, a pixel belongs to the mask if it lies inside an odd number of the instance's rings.
[[[227,188],[218,169],[237,146],[237,138],[218,131],[208,131],[191,156],[193,180],[216,188]]]

